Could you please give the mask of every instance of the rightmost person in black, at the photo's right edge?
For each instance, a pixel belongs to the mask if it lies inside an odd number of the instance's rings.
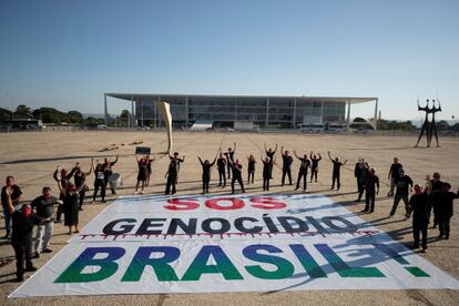
[[[450,226],[449,222],[452,217],[453,210],[452,204],[455,198],[459,197],[459,188],[457,193],[450,192],[451,185],[449,183],[443,183],[442,191],[432,191],[432,194],[438,194],[438,204],[437,204],[437,222],[438,230],[440,231],[438,237],[449,239]]]

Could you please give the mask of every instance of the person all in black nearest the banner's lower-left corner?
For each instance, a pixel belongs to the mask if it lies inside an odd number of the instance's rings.
[[[4,192],[8,212],[12,218],[11,245],[16,255],[16,276],[18,282],[22,282],[24,272],[37,271],[32,264],[32,232],[40,218],[29,204],[23,204],[20,211],[16,211],[11,200],[13,188],[7,186]]]

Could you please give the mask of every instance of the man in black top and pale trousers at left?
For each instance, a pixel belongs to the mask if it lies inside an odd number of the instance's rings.
[[[40,253],[51,253],[49,248],[54,228],[54,205],[62,204],[62,201],[52,195],[50,187],[43,187],[42,195],[34,198],[30,206],[37,210],[40,223],[37,226],[35,254],[34,258],[40,258]]]

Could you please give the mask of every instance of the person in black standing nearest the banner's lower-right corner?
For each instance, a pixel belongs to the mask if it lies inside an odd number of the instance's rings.
[[[419,248],[419,234],[422,234],[422,252],[427,251],[427,191],[416,184],[414,186],[415,194],[411,195],[408,206],[410,214],[412,213],[412,238],[415,243],[411,248]]]

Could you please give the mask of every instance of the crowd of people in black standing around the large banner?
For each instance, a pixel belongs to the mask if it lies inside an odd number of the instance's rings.
[[[271,182],[273,180],[273,167],[276,164],[277,144],[274,149],[264,146],[264,155],[261,156],[263,164],[263,191],[269,191]],[[294,156],[289,151],[280,149],[282,156],[282,178],[280,185],[285,183],[293,186],[292,166],[294,157],[299,161],[298,176],[296,180],[295,190],[303,187],[303,192],[307,191],[307,183],[318,182],[319,163],[323,160],[320,153],[315,154],[297,154],[293,151]],[[180,157],[175,152],[169,155],[169,166],[165,173],[166,184],[165,194],[175,194],[178,183],[178,174],[181,164],[185,162],[185,156]],[[333,157],[330,152],[327,152],[328,159],[333,165],[332,186],[330,190],[340,188],[340,170],[347,163],[347,160],[341,160],[338,156]],[[253,154],[246,155],[247,159],[247,180],[246,184],[254,184],[257,161]],[[101,202],[105,203],[106,188],[110,187],[112,194],[116,194],[115,186],[111,181],[113,175],[113,166],[118,162],[118,156],[114,161],[104,159],[103,162],[91,161],[91,167],[84,172],[80,164],[76,163],[71,171],[58,166],[53,174],[57,182],[59,196],[54,196],[50,186],[42,188],[42,194],[31,201],[24,203],[22,201],[21,188],[16,184],[13,176],[8,176],[6,185],[1,190],[1,202],[3,206],[6,236],[11,239],[14,248],[17,259],[17,279],[23,279],[24,272],[33,272],[35,267],[32,264],[32,258],[39,258],[41,253],[51,253],[50,241],[53,233],[54,223],[62,222],[62,214],[64,215],[64,226],[69,228],[69,234],[79,233],[79,213],[83,211],[83,203],[86,192],[89,192],[88,177],[94,172],[93,195],[92,202],[98,197],[99,191]],[[197,157],[202,166],[202,193],[210,193],[211,173],[216,165],[218,172],[218,187],[225,188],[227,180],[231,180],[232,193],[235,193],[236,182],[239,188],[245,193],[245,185],[243,180],[243,165],[236,157],[236,143],[233,147],[228,147],[226,152],[218,149],[218,152],[212,160],[203,160]],[[150,155],[139,157],[136,155],[136,163],[139,166],[136,185],[134,194],[137,194],[139,187],[141,194],[150,184],[152,175],[152,163],[155,157]],[[308,176],[310,171],[310,176]],[[354,171],[357,181],[358,194],[356,202],[363,201],[365,197],[365,207],[363,213],[374,213],[376,195],[379,193],[380,181],[376,174],[376,170],[371,167],[364,159],[359,159],[355,164]],[[73,177],[73,182],[72,182]],[[286,182],[288,178],[288,182]],[[390,165],[388,180],[390,187],[387,196],[394,197],[394,204],[388,217],[394,217],[397,206],[400,201],[405,204],[405,220],[412,215],[412,235],[414,248],[419,248],[426,252],[427,249],[427,228],[434,213],[432,227],[439,230],[439,238],[448,239],[450,235],[450,218],[452,216],[453,200],[459,196],[452,193],[451,185],[440,180],[439,173],[434,173],[432,178],[426,177],[426,182],[416,184],[410,176],[405,173],[404,166],[399,163],[397,157],[394,157],[394,163]],[[302,185],[303,181],[303,185]],[[412,195],[409,196],[410,191]],[[11,225],[12,224],[12,225]],[[32,252],[32,234],[35,231],[34,252]]]

